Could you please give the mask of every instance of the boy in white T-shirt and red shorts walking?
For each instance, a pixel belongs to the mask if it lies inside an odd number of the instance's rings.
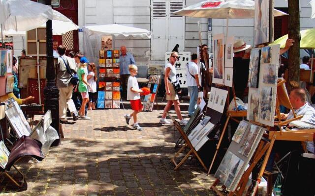
[[[135,65],[129,65],[130,76],[128,78],[127,85],[127,100],[130,100],[131,109],[133,112],[128,115],[125,114],[126,123],[129,124],[130,118],[133,118],[132,128],[141,131],[142,128],[137,122],[137,114],[142,111],[142,103],[140,99],[140,93],[143,91],[139,89],[137,78],[135,75],[138,73],[138,68]]]

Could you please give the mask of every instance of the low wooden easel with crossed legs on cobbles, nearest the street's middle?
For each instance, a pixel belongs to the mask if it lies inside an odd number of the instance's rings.
[[[180,134],[182,135],[183,139],[185,140],[185,145],[183,145],[174,155],[173,158],[171,158],[171,161],[173,162],[173,164],[175,165],[175,168],[174,170],[177,170],[179,167],[181,167],[181,165],[183,165],[183,163],[188,159],[189,155],[191,153],[193,153],[198,161],[200,162],[200,164],[202,165],[202,167],[207,171],[207,167],[205,166],[205,164],[203,163],[203,161],[201,160],[200,156],[198,155],[197,151],[194,149],[194,147],[192,146],[192,144],[190,143],[186,133],[184,132],[182,126],[171,116],[171,115],[168,115],[174,122],[174,125],[175,127],[177,128],[177,130],[180,132]],[[185,157],[179,162],[177,163],[175,161],[175,158],[186,148],[186,147],[189,147],[190,150],[189,152],[185,155]]]

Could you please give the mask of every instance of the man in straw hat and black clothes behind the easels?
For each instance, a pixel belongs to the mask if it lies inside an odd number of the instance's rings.
[[[245,51],[250,49],[251,45],[247,45],[243,40],[234,41],[234,57],[233,57],[233,83],[235,95],[243,99],[244,91],[247,87],[248,74],[250,67],[250,59],[244,59]]]

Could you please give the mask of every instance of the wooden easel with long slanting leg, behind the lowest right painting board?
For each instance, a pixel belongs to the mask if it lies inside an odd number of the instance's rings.
[[[230,88],[228,88],[228,98],[227,98],[227,100],[229,100],[229,92],[230,92]],[[211,161],[211,164],[210,164],[210,167],[209,167],[209,170],[208,170],[208,175],[210,174],[210,171],[211,171],[211,169],[212,169],[212,166],[213,166],[213,164],[214,164],[214,162],[215,162],[215,159],[216,159],[216,157],[217,157],[217,154],[218,154],[218,151],[219,151],[219,149],[220,149],[220,146],[221,146],[221,142],[222,142],[222,140],[223,140],[223,137],[224,137],[224,134],[225,134],[225,130],[226,130],[226,128],[227,128],[227,125],[228,125],[228,123],[229,123],[229,120],[231,119],[231,120],[233,120],[233,121],[235,121],[236,123],[240,123],[240,121],[239,120],[237,120],[237,119],[235,119],[234,117],[246,117],[247,116],[247,110],[238,110],[237,109],[237,103],[236,103],[236,96],[235,96],[235,90],[234,90],[234,85],[232,85],[232,93],[233,93],[233,100],[234,100],[234,104],[235,104],[235,107],[236,107],[236,110],[228,110],[228,106],[229,106],[229,103],[228,102],[226,102],[226,116],[227,116],[227,119],[226,119],[226,121],[225,121],[225,124],[224,124],[224,127],[223,127],[223,130],[222,130],[222,132],[221,132],[221,136],[220,136],[220,139],[219,139],[219,143],[218,143],[218,145],[217,145],[217,148],[216,148],[216,152],[215,152],[215,154],[214,154],[214,156],[213,156],[213,159],[212,159],[212,161]]]

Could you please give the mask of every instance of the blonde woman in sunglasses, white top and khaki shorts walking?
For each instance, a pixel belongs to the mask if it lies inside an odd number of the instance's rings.
[[[171,109],[171,106],[174,104],[175,112],[177,114],[178,119],[180,120],[181,125],[186,125],[187,121],[185,121],[181,114],[181,108],[180,103],[178,100],[178,95],[173,87],[172,83],[176,83],[177,77],[176,77],[176,69],[175,69],[175,62],[179,58],[177,52],[171,52],[171,55],[169,57],[169,62],[165,64],[164,72],[164,83],[165,83],[165,91],[166,91],[166,100],[167,104],[164,108],[162,118],[159,120],[159,123],[161,124],[169,124],[170,122],[167,121],[166,115],[167,112]]]

